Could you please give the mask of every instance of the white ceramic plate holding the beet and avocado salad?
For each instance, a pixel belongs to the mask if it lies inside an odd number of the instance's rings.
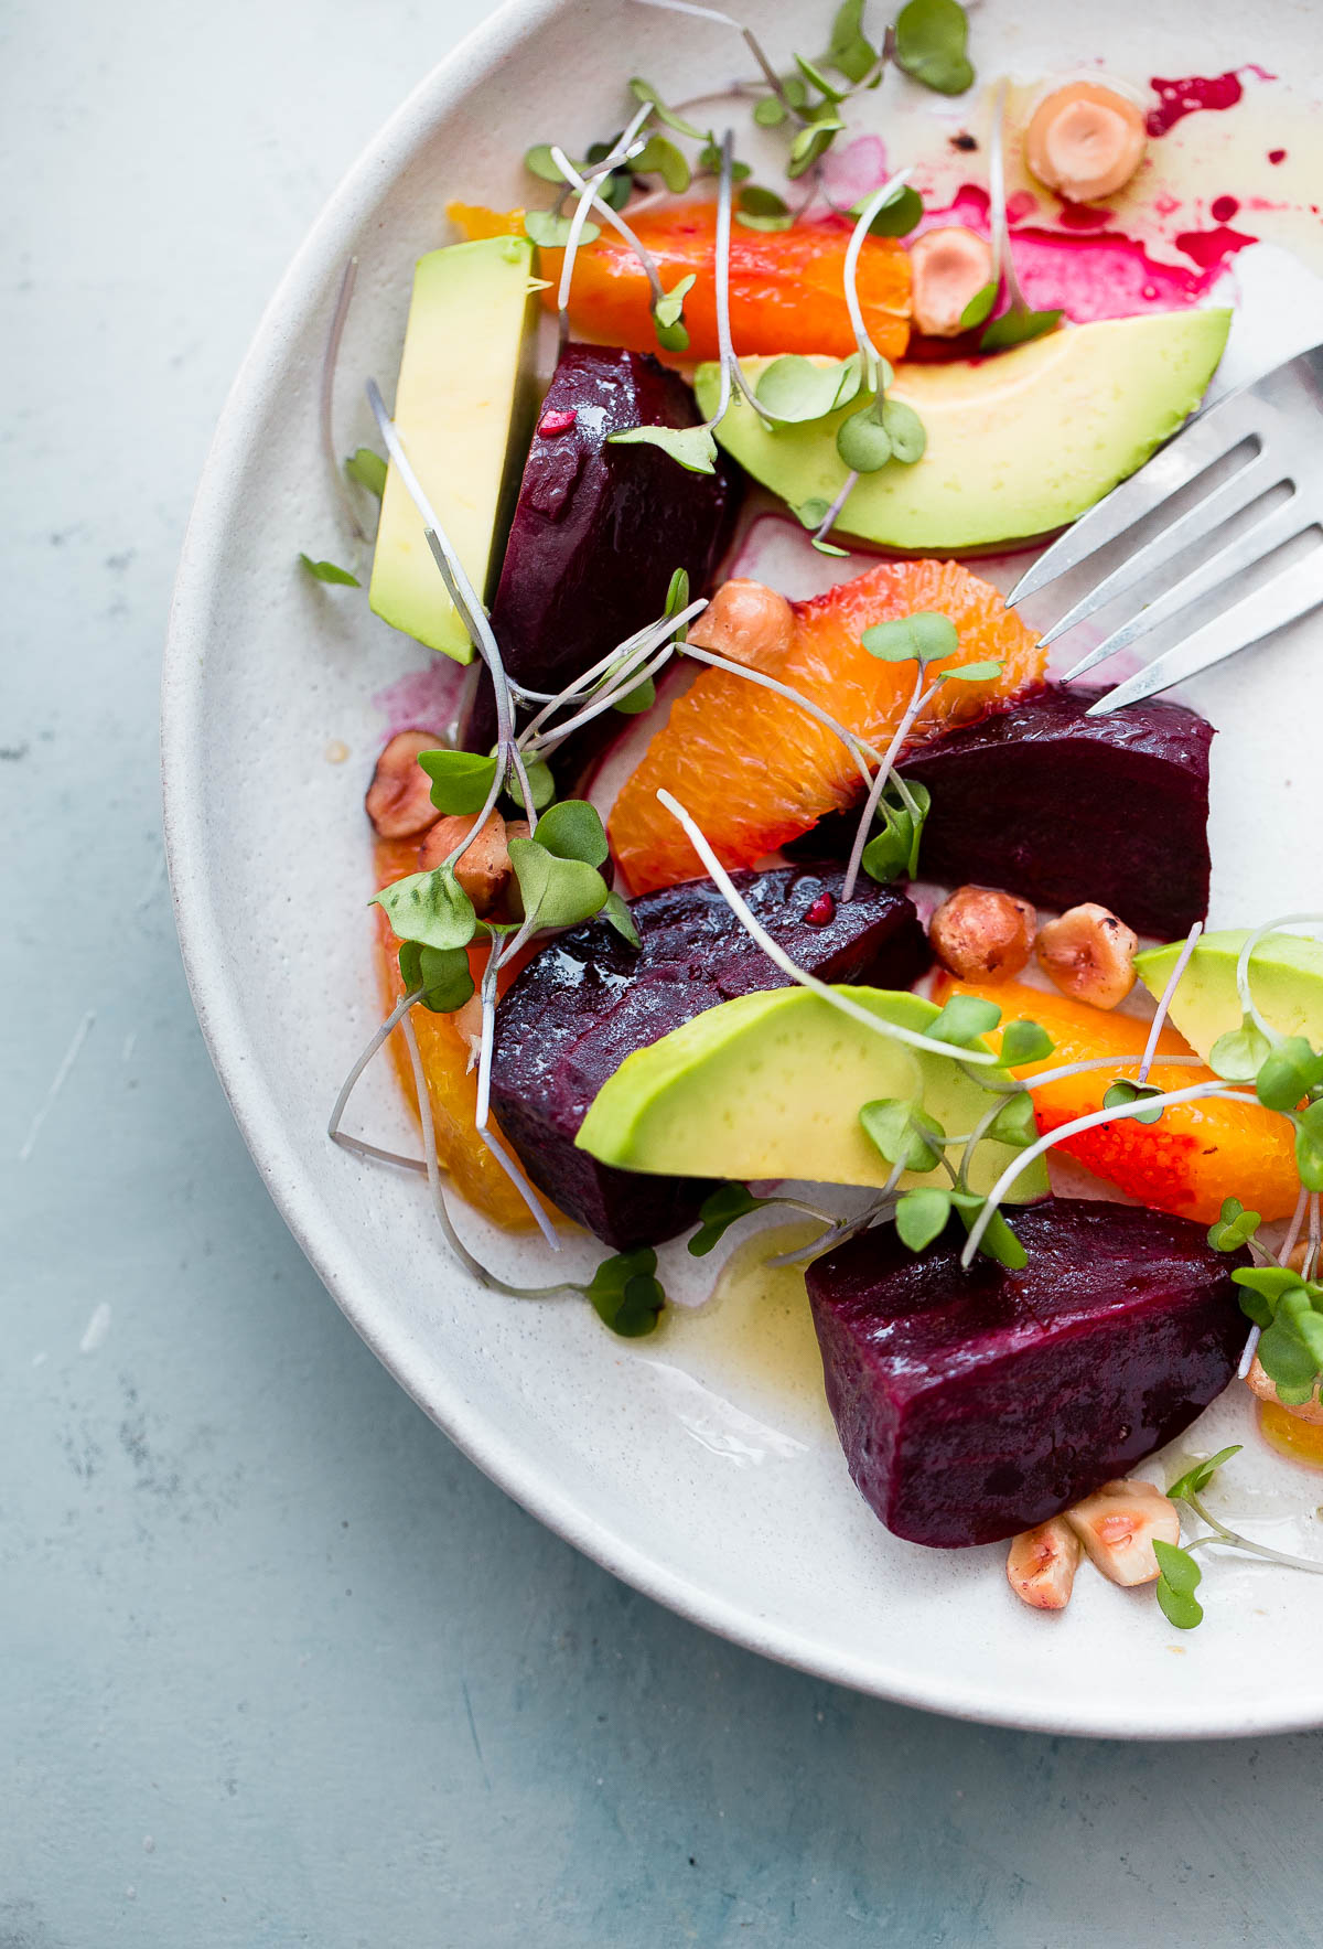
[[[811,41],[824,39],[828,12],[824,0]],[[770,0],[756,14],[777,57],[803,43],[801,6]],[[988,76],[1093,57],[1140,76],[1216,74],[1245,58],[1307,74],[1311,18],[1261,10],[1247,39],[1228,0],[984,0],[974,53]],[[448,197],[518,201],[526,142],[575,148],[618,127],[631,72],[678,97],[698,74],[738,68],[738,43],[676,16],[618,0],[507,6],[405,101],[294,259],[207,464],[168,651],[168,836],[203,1031],[271,1195],[368,1345],[497,1483],[637,1588],[824,1678],[976,1719],[1120,1737],[1323,1723],[1323,1581],[1210,1567],[1208,1622],[1189,1637],[1152,1596],[1093,1575],[1066,1616],[1029,1614],[1005,1590],[1002,1549],[924,1551],[873,1520],[811,1362],[787,1380],[754,1319],[742,1345],[682,1319],[631,1347],[586,1306],[495,1298],[446,1259],[417,1181],[325,1140],[327,1105],[376,1019],[362,819],[382,737],[372,698],[429,661],[359,596],[294,567],[298,550],[347,548],[316,439],[341,265],[360,259],[337,382],[347,452],[370,439],[362,376],[392,392],[409,267],[446,238]],[[968,113],[904,96],[902,121],[929,144]],[[881,117],[883,101],[869,101]],[[1218,181],[1210,195],[1233,187]],[[1220,924],[1300,906],[1311,873],[1317,883],[1317,848],[1305,846],[1323,828],[1317,647],[1305,626],[1192,692],[1222,729]],[[347,762],[329,762],[337,741]],[[417,1142],[384,1068],[353,1125]],[[1187,1446],[1208,1452],[1247,1429],[1243,1401],[1228,1399]],[[1319,1501],[1319,1477],[1259,1444],[1235,1481],[1228,1507],[1292,1548],[1292,1516]]]

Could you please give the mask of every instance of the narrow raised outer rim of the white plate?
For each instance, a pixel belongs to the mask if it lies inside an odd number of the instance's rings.
[[[916,1680],[902,1666],[888,1664],[883,1655],[861,1661],[832,1653],[809,1633],[777,1625],[754,1608],[715,1596],[639,1549],[622,1528],[585,1512],[573,1493],[542,1477],[518,1444],[444,1374],[440,1378],[429,1374],[425,1384],[409,1355],[407,1337],[382,1323],[372,1302],[370,1275],[360,1273],[355,1251],[339,1238],[325,1197],[283,1138],[271,1088],[246,1037],[236,992],[222,973],[224,957],[218,951],[220,934],[205,863],[205,815],[201,793],[191,783],[197,776],[191,754],[201,735],[199,645],[207,639],[214,610],[226,511],[263,403],[275,390],[283,345],[298,329],[304,312],[316,306],[327,267],[347,255],[347,238],[357,228],[360,207],[380,197],[384,181],[399,177],[429,140],[436,121],[481,86],[507,49],[571,6],[573,0],[505,0],[423,76],[368,140],[323,203],[263,308],[203,464],[175,575],[162,665],[162,809],[185,978],[207,1052],[240,1134],[281,1218],[323,1286],[423,1413],[499,1489],[551,1532],[690,1624],[830,1684],[982,1725],[1126,1740],[1249,1739],[1317,1729],[1323,1725],[1323,1701],[1304,1711],[1181,1707],[1163,1721],[1124,1711],[1103,1719],[1089,1709],[1072,1713],[1060,1701],[1039,1701],[1023,1686],[1007,1690],[957,1674],[949,1684],[935,1686],[931,1680]]]

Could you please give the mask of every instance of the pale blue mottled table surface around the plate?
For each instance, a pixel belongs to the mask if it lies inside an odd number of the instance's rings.
[[[481,12],[0,16],[0,1949],[1319,1941],[1321,1739],[998,1733],[680,1624],[397,1392],[230,1121],[173,561],[286,257]]]

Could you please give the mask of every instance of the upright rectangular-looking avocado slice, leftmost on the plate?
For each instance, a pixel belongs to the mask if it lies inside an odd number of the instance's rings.
[[[487,600],[532,439],[532,244],[481,238],[419,257],[405,327],[396,427],[477,594]],[[384,622],[473,661],[473,645],[392,464],[368,600]]]

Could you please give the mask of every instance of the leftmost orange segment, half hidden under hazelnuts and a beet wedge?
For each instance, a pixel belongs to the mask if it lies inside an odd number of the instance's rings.
[[[384,887],[403,873],[417,873],[417,840],[378,840],[376,885]],[[374,906],[372,912],[378,924],[382,1002],[390,1012],[403,994],[399,963],[396,959],[399,941],[392,934],[382,908]],[[485,959],[485,947],[470,949],[473,980],[479,980]],[[473,1123],[477,1115],[477,1070],[470,1072],[468,1068],[468,1041],[456,1027],[454,1015],[433,1015],[427,1008],[415,1008],[413,1029],[419,1041],[419,1056],[423,1058],[423,1074],[427,1076],[427,1095],[433,1105],[433,1127],[436,1132],[436,1158],[442,1169],[470,1204],[487,1218],[495,1218],[507,1232],[530,1230],[534,1224],[532,1212],[477,1134]],[[390,1039],[390,1056],[396,1064],[399,1086],[417,1113],[413,1064],[409,1062],[409,1047],[399,1029]]]

